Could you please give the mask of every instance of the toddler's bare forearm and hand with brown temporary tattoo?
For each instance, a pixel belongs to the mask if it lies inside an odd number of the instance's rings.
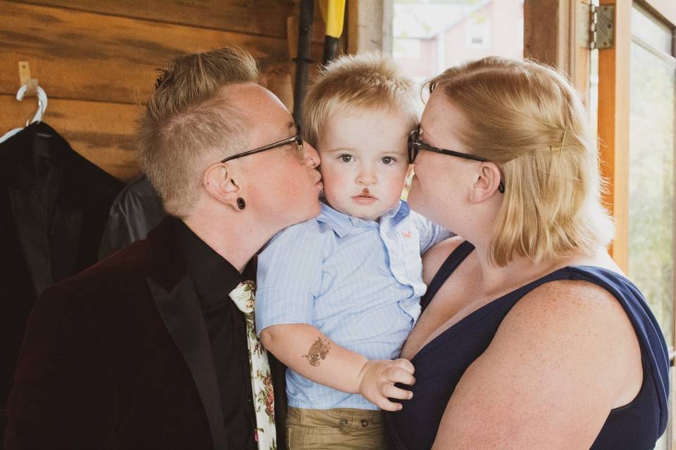
[[[411,391],[394,383],[413,385],[413,364],[408,359],[373,360],[336,345],[317,328],[306,324],[275,325],[261,331],[263,347],[303,377],[343,392],[361,394],[386,411],[399,411]]]

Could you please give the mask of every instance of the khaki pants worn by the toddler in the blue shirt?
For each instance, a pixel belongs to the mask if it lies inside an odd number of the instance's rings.
[[[382,413],[289,407],[287,446],[289,450],[385,450]]]

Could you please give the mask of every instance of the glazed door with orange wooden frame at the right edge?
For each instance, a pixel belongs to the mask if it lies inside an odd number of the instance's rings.
[[[644,293],[673,353],[676,4],[633,0],[613,6],[615,41],[592,53],[590,95],[592,108],[598,98],[601,169],[610,181],[606,199],[618,225],[613,258]],[[673,383],[673,369],[671,375]],[[673,437],[670,411],[656,449],[674,448]]]

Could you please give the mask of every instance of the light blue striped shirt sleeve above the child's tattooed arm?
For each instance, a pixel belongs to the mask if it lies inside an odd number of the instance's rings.
[[[273,325],[313,321],[322,283],[324,236],[315,221],[281,231],[258,255],[256,333]]]

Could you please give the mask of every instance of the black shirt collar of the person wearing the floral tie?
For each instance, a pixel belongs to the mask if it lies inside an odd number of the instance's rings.
[[[212,307],[230,294],[239,283],[255,276],[254,263],[244,268],[244,275],[218,255],[213,248],[201,240],[194,231],[180,219],[172,221],[181,249],[187,259],[187,266],[195,290],[203,306]],[[206,303],[206,305],[204,305]]]

